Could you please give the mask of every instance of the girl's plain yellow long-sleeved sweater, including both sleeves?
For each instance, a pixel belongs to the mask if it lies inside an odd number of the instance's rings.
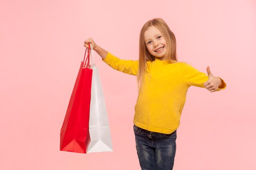
[[[122,60],[108,52],[103,60],[117,71],[137,76],[139,60]],[[208,75],[186,63],[147,62],[143,93],[135,105],[133,123],[143,129],[170,134],[180,125],[180,115],[190,86],[204,88]],[[221,79],[222,80],[222,79]],[[226,88],[222,80],[222,88]]]

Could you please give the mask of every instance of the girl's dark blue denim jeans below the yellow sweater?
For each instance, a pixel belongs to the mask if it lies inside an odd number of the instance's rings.
[[[141,170],[172,170],[176,152],[176,130],[171,134],[133,126]]]

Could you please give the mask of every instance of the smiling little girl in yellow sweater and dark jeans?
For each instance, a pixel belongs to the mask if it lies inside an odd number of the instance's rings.
[[[177,62],[176,39],[161,18],[149,20],[139,37],[139,60],[121,60],[85,40],[117,71],[137,76],[139,95],[135,104],[134,133],[142,170],[172,170],[176,152],[177,128],[190,86],[220,91],[226,88],[220,77],[207,67],[207,74],[185,62]]]

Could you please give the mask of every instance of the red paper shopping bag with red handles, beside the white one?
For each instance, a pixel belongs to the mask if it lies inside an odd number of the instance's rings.
[[[86,60],[84,56],[83,62],[81,62],[79,73],[76,78],[74,89],[72,91],[65,119],[61,128],[60,150],[62,151],[86,153],[86,144],[88,143],[88,140],[90,140],[89,115],[92,69],[90,68],[89,51],[90,45]]]

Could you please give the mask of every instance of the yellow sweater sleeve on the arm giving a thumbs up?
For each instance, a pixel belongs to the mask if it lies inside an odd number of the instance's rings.
[[[224,90],[227,86],[224,80],[222,78],[220,79],[222,81],[222,86],[219,86],[216,91]],[[204,82],[208,81],[208,75],[206,73],[200,72],[198,69],[194,68],[190,64],[184,64],[183,80],[188,86],[205,88]]]

